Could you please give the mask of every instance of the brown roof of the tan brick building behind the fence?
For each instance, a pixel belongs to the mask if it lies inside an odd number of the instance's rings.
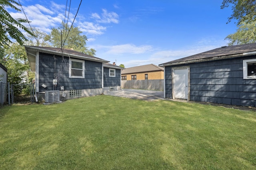
[[[152,72],[152,71],[164,71],[164,68],[156,66],[154,64],[147,64],[143,66],[135,66],[122,70],[122,74],[131,74],[137,72]]]

